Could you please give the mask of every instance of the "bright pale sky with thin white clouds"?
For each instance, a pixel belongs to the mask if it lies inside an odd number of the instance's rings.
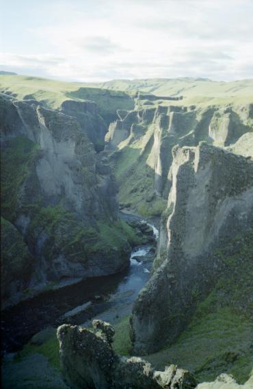
[[[88,82],[253,77],[253,0],[0,3],[0,70]]]

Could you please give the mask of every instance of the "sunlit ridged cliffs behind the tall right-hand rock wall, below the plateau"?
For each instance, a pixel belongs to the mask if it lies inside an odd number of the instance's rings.
[[[231,147],[251,133],[252,105],[170,105],[168,101],[135,99],[135,110],[118,111],[106,141],[120,183],[122,206],[140,214],[161,214],[172,185],[172,148],[210,145]],[[237,147],[239,151],[239,146]]]

